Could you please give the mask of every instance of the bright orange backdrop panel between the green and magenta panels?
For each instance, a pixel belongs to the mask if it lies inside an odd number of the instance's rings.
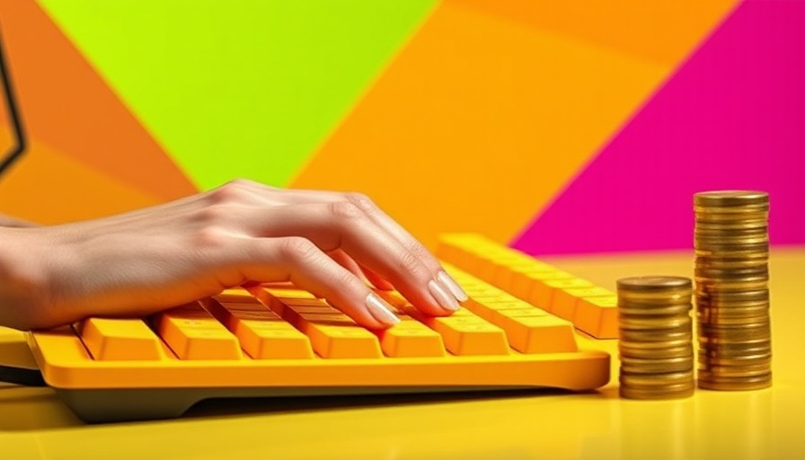
[[[364,191],[430,247],[506,241],[671,69],[446,2],[292,185]]]

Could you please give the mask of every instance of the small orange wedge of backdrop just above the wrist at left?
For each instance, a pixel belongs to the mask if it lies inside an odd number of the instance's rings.
[[[0,182],[2,213],[40,224],[108,216],[161,201],[37,141],[6,174]]]

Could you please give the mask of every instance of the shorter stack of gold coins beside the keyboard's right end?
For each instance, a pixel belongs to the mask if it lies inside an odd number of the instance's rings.
[[[694,394],[693,283],[679,277],[617,282],[620,394],[674,399]]]

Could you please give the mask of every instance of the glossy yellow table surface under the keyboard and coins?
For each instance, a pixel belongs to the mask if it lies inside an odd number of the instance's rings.
[[[608,288],[641,274],[692,276],[689,252],[548,259]],[[178,420],[84,425],[47,388],[0,385],[0,459],[805,458],[805,247],[771,259],[774,386],[684,400],[589,394],[372,396],[202,403]],[[25,361],[0,329],[0,358]]]

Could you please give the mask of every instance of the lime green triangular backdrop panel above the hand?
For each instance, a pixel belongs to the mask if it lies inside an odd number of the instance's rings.
[[[199,189],[286,185],[436,0],[40,0]]]

